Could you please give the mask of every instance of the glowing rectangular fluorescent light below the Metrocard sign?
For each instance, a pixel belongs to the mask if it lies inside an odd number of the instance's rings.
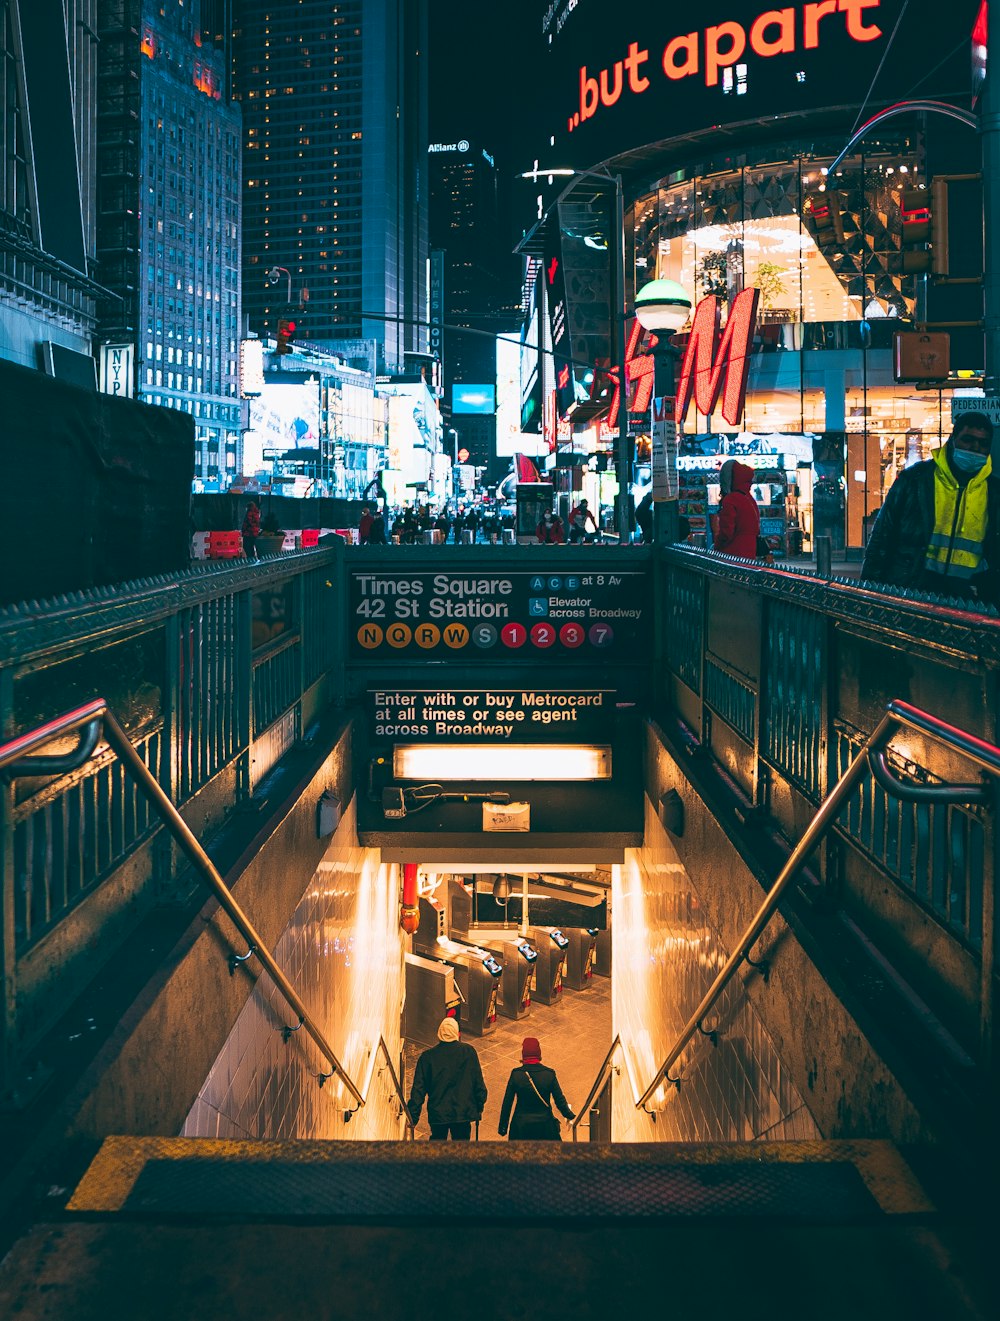
[[[576,744],[399,744],[394,779],[610,779],[612,749]]]

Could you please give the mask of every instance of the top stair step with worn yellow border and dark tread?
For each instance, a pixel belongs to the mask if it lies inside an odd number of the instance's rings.
[[[540,1190],[544,1189],[544,1196]],[[790,1218],[933,1210],[890,1143],[452,1144],[110,1137],[67,1211],[174,1218]]]

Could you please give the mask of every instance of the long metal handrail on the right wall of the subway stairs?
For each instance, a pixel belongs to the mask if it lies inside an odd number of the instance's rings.
[[[937,716],[931,716],[929,712],[921,711],[918,707],[911,707],[908,701],[890,701],[885,709],[885,715],[878,721],[875,731],[868,736],[868,738],[865,738],[851,765],[847,768],[830,794],[827,794],[819,804],[816,815],[810,822],[806,834],[793,849],[791,856],[781,869],[778,878],[768,892],[753,921],[740,937],[732,955],[727,959],[715,982],[701,997],[701,1003],[688,1018],[675,1045],[657,1070],[657,1075],[653,1082],[635,1102],[637,1110],[643,1108],[649,1114],[653,1114],[653,1111],[649,1111],[647,1102],[662,1081],[666,1081],[675,1087],[680,1086],[680,1078],[671,1078],[670,1070],[684,1053],[695,1033],[699,1030],[704,1032],[701,1022],[705,1015],[712,1009],[719,996],[729,985],[740,964],[746,962],[756,966],[749,958],[750,950],[757,943],[768,922],[770,922],[774,915],[778,904],[781,902],[782,896],[787,890],[793,878],[801,871],[820,839],[835,823],[844,801],[848,794],[851,794],[865,769],[872,771],[886,793],[894,794],[896,797],[938,803],[985,802],[988,791],[982,783],[913,786],[898,781],[888,769],[885,749],[901,728],[913,729],[917,733],[926,734],[935,742],[943,744],[946,748],[951,748],[963,757],[968,757],[970,761],[974,761],[980,770],[984,770],[988,775],[993,775],[1000,779],[1000,748],[995,744],[988,744],[983,738],[978,738],[975,734],[966,733],[964,729],[958,729],[955,725],[938,720]]]

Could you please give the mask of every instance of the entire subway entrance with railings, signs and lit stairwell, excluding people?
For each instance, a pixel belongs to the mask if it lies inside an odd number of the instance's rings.
[[[1000,625],[925,605],[336,544],[0,613],[0,1312],[993,1314]]]

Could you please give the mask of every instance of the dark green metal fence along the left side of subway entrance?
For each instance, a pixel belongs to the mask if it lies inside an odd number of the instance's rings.
[[[3,734],[107,697],[173,802],[197,795],[203,819],[221,819],[234,794],[252,786],[255,742],[269,748],[279,729],[284,749],[285,731],[301,729],[304,695],[332,667],[341,555],[324,548],[259,564],[207,563],[177,577],[0,610]],[[258,637],[259,598],[284,604],[277,641]],[[5,1021],[8,1036],[18,1018],[37,1034],[74,989],[74,955],[86,946],[89,959],[75,962],[87,962],[92,975],[103,929],[120,939],[122,910],[131,905],[137,917],[156,894],[148,845],[159,827],[107,750],[70,775],[0,785],[0,824],[4,911],[13,915],[3,933]],[[123,885],[129,860],[135,877]],[[99,892],[94,930],[81,921],[67,938],[66,919]],[[46,938],[57,929],[49,958]],[[18,1001],[21,1009],[32,1001],[30,1012],[20,1013]],[[8,1062],[12,1046],[24,1045],[8,1041]]]

